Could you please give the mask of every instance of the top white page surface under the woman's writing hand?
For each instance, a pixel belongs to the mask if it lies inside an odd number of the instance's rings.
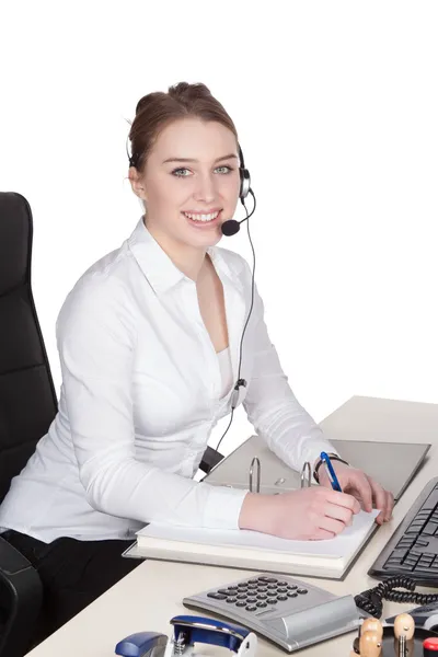
[[[357,551],[365,537],[368,535],[379,512],[378,509],[373,509],[369,514],[360,510],[353,517],[350,527],[344,529],[335,538],[322,541],[291,541],[246,529],[203,529],[158,522],[148,525],[137,534],[180,543],[245,548],[277,553],[339,558]]]

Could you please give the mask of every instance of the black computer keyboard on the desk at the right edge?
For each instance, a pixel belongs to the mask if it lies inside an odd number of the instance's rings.
[[[423,488],[368,575],[404,575],[438,588],[438,476]]]

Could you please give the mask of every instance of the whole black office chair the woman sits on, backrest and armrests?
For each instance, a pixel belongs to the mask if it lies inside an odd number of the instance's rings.
[[[32,237],[27,200],[0,192],[0,503],[58,410],[32,296]],[[209,472],[222,458],[207,447],[199,468]],[[42,600],[37,572],[0,534],[0,657],[32,647]]]

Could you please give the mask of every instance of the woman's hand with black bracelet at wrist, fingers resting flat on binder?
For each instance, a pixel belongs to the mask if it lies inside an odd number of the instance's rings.
[[[391,520],[392,509],[394,507],[394,497],[392,493],[385,491],[378,482],[357,468],[351,468],[350,465],[346,465],[336,460],[332,461],[332,465],[343,493],[353,495],[366,511],[371,511],[372,504],[374,503],[374,507],[380,510],[380,514],[376,518],[378,525]],[[332,488],[324,465],[319,468],[318,474],[321,486]]]

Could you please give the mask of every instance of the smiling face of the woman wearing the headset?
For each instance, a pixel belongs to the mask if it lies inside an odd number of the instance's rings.
[[[143,174],[129,170],[132,191],[146,201],[148,229],[168,245],[205,252],[217,244],[239,200],[239,164],[235,136],[222,124],[189,117],[166,126]]]

